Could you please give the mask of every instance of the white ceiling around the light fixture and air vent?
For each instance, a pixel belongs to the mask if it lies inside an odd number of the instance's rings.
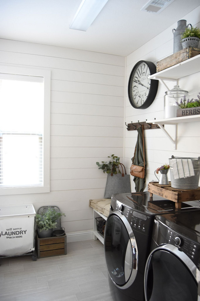
[[[175,0],[153,14],[140,10],[147,2],[109,0],[84,32],[69,29],[81,0],[0,0],[0,37],[127,56],[200,5]]]

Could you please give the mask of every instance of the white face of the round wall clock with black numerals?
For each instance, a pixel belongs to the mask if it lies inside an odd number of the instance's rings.
[[[141,107],[144,105],[150,89],[150,75],[149,67],[145,62],[142,62],[135,69],[132,77],[132,101],[136,107]]]

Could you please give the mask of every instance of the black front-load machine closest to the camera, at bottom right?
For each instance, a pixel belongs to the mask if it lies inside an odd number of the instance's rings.
[[[145,268],[146,301],[197,301],[200,210],[156,216]]]

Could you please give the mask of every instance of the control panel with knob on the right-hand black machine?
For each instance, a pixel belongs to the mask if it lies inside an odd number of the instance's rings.
[[[178,249],[184,252],[195,263],[198,269],[200,269],[200,244],[198,242],[194,242],[188,237],[179,234],[172,229],[167,230],[166,241],[168,244],[178,247]]]

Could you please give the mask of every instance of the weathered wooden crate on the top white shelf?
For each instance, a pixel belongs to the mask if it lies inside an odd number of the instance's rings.
[[[187,47],[157,62],[156,72],[174,66],[200,54],[200,48]]]

